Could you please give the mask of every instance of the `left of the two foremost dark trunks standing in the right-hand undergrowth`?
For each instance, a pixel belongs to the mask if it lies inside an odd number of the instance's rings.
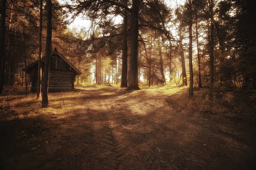
[[[193,65],[192,65],[192,11],[189,0],[189,97],[193,97]]]

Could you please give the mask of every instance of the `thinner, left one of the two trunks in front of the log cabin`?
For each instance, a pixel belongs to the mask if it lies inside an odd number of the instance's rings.
[[[43,0],[40,0],[40,18],[39,18],[39,49],[38,49],[38,86],[36,98],[40,98],[42,81],[42,30],[43,30]]]

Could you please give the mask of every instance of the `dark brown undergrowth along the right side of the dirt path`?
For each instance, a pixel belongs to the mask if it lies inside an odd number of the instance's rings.
[[[209,99],[209,89],[194,90],[192,99],[188,97],[188,88],[171,95],[167,102],[174,108],[193,110],[195,113],[211,115],[212,117],[256,121],[256,97],[254,91],[242,93],[236,91],[215,91],[212,100]]]

